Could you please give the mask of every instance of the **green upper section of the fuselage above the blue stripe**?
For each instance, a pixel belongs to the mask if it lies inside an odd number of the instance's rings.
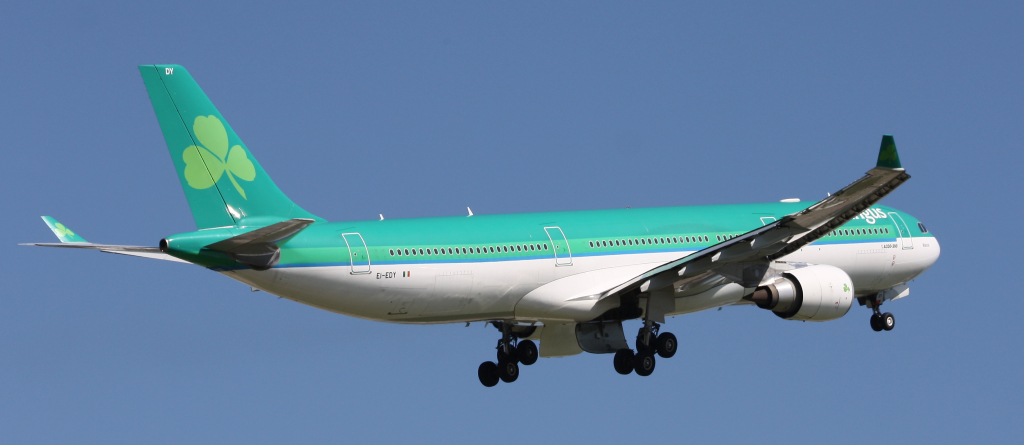
[[[276,267],[348,265],[348,248],[343,233],[361,235],[372,265],[554,258],[545,227],[561,229],[572,257],[692,252],[721,242],[726,236],[736,236],[761,227],[770,223],[772,218],[782,218],[811,204],[768,203],[316,223],[281,244],[281,263]],[[815,244],[895,240],[898,231],[889,217],[890,212],[896,211],[883,206],[873,207],[842,227],[843,230],[852,230],[851,234],[847,235],[845,231],[842,235],[829,234]],[[931,236],[930,233],[920,232],[916,219],[901,212],[899,215],[913,236]],[[860,233],[857,233],[858,229]],[[868,232],[865,229],[872,230]],[[687,236],[690,237],[689,242],[685,241]],[[700,241],[695,239],[698,236]],[[705,236],[708,241],[703,241]],[[655,238],[655,242],[647,242]],[[669,242],[662,242],[662,238],[668,238]],[[615,239],[620,240],[617,247],[591,247],[592,241]],[[622,243],[622,240],[630,239],[642,242]],[[514,246],[520,249],[525,246],[527,249],[504,252],[505,247]],[[532,251],[529,246],[534,246]],[[544,250],[545,246],[547,250]],[[457,248],[459,253],[455,254]],[[462,253],[464,248],[466,254]],[[477,254],[477,248],[485,248],[487,252]],[[502,248],[503,252],[492,253],[490,248]],[[398,249],[402,251],[400,256],[393,252]],[[416,255],[404,255],[407,249],[410,254],[415,249]],[[421,249],[424,255],[420,255]],[[430,250],[429,255],[426,255],[427,249]],[[433,253],[435,249],[438,255]],[[444,249],[443,254],[440,254],[441,249]],[[453,250],[452,254],[447,253],[449,249]],[[226,266],[221,261],[217,263],[210,266]]]

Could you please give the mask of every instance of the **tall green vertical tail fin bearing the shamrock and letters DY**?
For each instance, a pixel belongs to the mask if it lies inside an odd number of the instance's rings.
[[[184,68],[138,68],[200,229],[317,218],[292,203]]]

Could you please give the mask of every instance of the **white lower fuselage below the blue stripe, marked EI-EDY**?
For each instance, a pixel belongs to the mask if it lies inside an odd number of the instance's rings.
[[[818,241],[781,261],[843,269],[853,280],[855,295],[862,297],[913,279],[935,263],[939,250],[934,237],[919,237],[910,244]],[[348,266],[222,273],[299,303],[378,321],[588,321],[610,309],[608,305],[617,304],[599,301],[598,294],[692,252],[574,255],[571,265],[556,265],[551,258],[372,265],[370,273],[352,273]],[[738,284],[732,286],[741,290]],[[670,315],[738,303],[742,292],[727,291],[677,295]]]

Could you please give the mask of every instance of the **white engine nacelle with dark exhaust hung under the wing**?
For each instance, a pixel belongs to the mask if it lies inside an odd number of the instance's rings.
[[[785,271],[746,300],[787,320],[835,320],[853,306],[853,280],[838,267],[808,266]]]

